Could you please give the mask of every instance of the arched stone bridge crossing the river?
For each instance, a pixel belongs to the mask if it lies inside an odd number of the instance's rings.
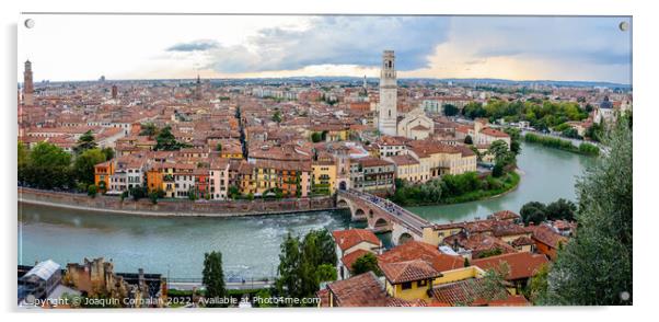
[[[352,220],[366,220],[375,233],[391,231],[391,240],[396,245],[409,240],[421,241],[424,227],[431,225],[388,199],[356,189],[339,189],[336,206],[350,209]]]

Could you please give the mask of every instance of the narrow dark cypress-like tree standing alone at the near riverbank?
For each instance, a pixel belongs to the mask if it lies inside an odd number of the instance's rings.
[[[204,254],[204,278],[207,307],[227,307],[227,289],[224,288],[224,272],[222,271],[222,253],[212,251]]]

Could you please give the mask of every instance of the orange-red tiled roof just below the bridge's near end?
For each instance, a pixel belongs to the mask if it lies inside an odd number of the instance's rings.
[[[413,260],[426,261],[437,272],[464,267],[462,256],[443,254],[433,245],[419,241],[408,241],[378,256],[378,263],[397,263]]]

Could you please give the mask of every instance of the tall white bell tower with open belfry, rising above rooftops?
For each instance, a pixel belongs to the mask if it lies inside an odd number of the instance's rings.
[[[381,134],[395,136],[397,100],[396,67],[393,50],[382,54],[382,71],[380,71],[380,105],[378,105],[378,129]]]

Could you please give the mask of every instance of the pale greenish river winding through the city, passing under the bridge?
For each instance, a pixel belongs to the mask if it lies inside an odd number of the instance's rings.
[[[522,145],[519,187],[489,200],[413,207],[433,222],[485,218],[501,209],[519,211],[531,200],[574,200],[576,175],[593,159],[541,146]],[[230,279],[275,276],[279,244],[291,232],[355,226],[346,211],[240,218],[151,218],[104,215],[20,205],[19,264],[51,258],[81,263],[84,257],[113,261],[116,272],[161,273],[176,278],[201,276],[204,253],[219,250]]]

